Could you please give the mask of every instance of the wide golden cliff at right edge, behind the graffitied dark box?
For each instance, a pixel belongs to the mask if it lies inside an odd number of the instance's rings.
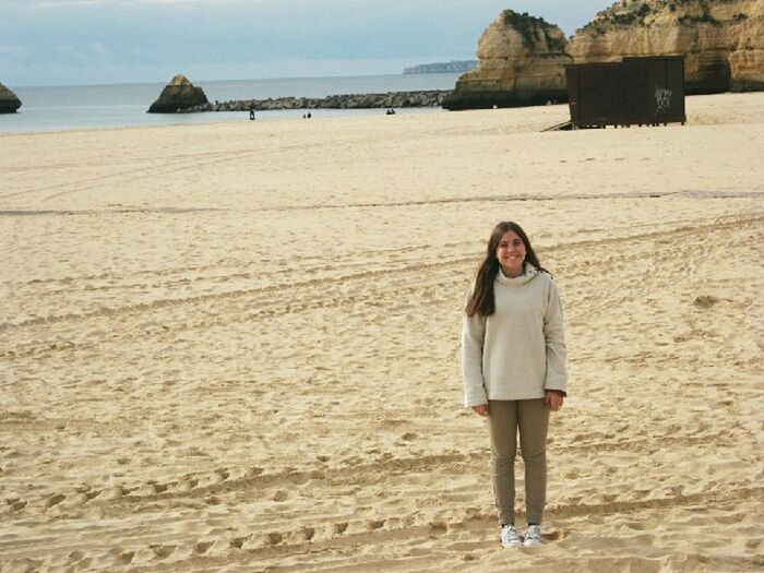
[[[763,13],[764,0],[621,0],[576,32],[566,51],[576,63],[682,55],[688,94],[757,89]]]

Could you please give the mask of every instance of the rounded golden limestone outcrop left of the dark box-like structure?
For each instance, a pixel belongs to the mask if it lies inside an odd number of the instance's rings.
[[[456,82],[446,109],[510,107],[566,100],[565,36],[554,25],[504,10],[478,40],[477,70]]]

